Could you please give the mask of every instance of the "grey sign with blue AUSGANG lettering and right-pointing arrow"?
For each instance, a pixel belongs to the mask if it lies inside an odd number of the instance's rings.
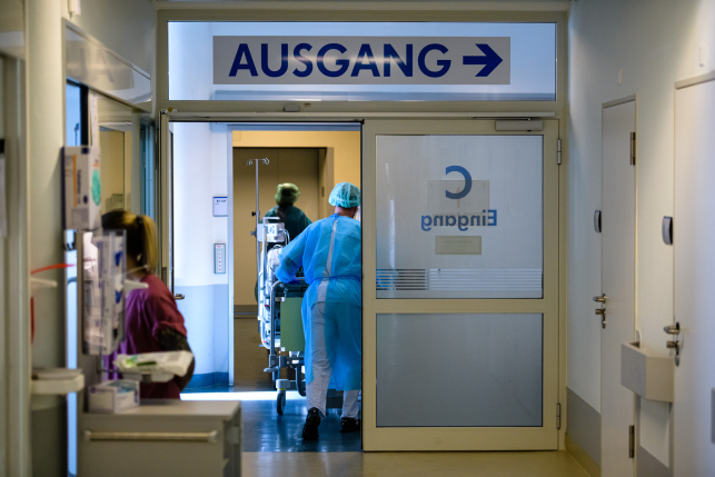
[[[509,37],[213,37],[213,85],[509,83]]]

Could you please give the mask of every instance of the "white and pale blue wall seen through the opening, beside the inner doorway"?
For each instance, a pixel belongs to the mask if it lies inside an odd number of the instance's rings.
[[[226,125],[173,125],[175,291],[186,295],[178,304],[196,375],[228,372],[229,274],[213,272],[213,245],[228,247],[228,217],[212,212],[212,198],[228,196],[227,153]]]

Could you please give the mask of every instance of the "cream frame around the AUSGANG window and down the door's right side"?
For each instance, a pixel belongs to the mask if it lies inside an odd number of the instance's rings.
[[[453,22],[554,22],[556,23],[556,100],[555,101],[365,101],[312,103],[310,117],[284,112],[286,101],[171,101],[168,91],[169,21],[453,21]],[[568,179],[568,6],[504,4],[490,6],[413,6],[380,7],[375,3],[346,4],[327,1],[310,8],[277,10],[271,6],[222,4],[196,8],[163,2],[157,8],[157,111],[167,109],[172,120],[183,121],[361,121],[368,118],[443,119],[556,119],[560,143],[558,173],[558,403],[560,419],[558,448],[565,449],[567,427],[567,179]]]

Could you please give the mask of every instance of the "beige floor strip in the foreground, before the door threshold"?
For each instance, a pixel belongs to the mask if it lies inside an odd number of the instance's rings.
[[[244,477],[588,477],[565,451],[245,453]]]

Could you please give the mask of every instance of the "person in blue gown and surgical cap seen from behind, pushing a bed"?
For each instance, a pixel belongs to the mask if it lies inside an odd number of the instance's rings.
[[[308,399],[302,438],[308,440],[318,438],[331,375],[336,389],[345,391],[340,431],[360,429],[363,254],[360,222],[355,220],[360,189],[338,183],[328,201],[335,213],[311,223],[291,241],[276,271],[278,279],[288,284],[302,266],[310,285],[302,300]]]

